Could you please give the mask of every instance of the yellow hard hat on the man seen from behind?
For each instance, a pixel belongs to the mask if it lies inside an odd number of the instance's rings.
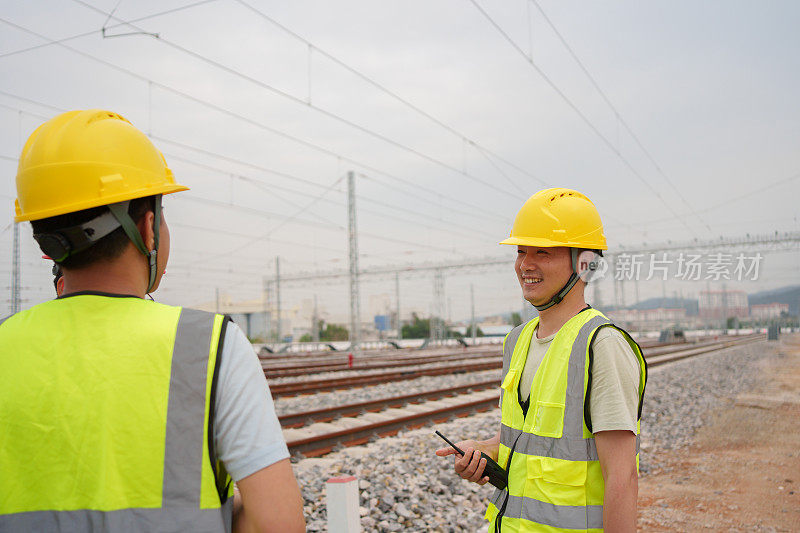
[[[188,190],[150,139],[111,111],[69,111],[25,143],[17,168],[16,222]]]

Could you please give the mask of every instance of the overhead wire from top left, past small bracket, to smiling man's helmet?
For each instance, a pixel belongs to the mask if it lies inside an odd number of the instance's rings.
[[[99,9],[99,8],[97,8],[95,6],[92,6],[91,4],[87,4],[83,0],[72,0],[72,1],[76,2],[76,3],[80,4],[80,5],[83,5],[83,6],[87,7],[87,8],[89,8],[89,9],[97,12],[97,13],[101,13],[103,15],[109,15],[109,13],[106,13],[102,9]],[[112,16],[112,18],[114,18],[116,20],[120,20],[117,17],[113,17],[113,15],[111,15],[111,16]],[[129,23],[128,26],[130,26],[131,28],[140,30],[140,31],[145,31],[144,29],[142,29],[139,26],[136,26],[134,24],[130,24]],[[250,83],[252,83],[252,84],[254,84],[254,85],[258,86],[258,87],[261,87],[262,89],[268,90],[268,91],[272,92],[273,94],[276,94],[276,95],[278,95],[278,96],[280,96],[282,98],[290,100],[290,101],[292,101],[292,102],[294,102],[296,104],[300,104],[300,105],[302,105],[304,107],[308,107],[308,108],[314,109],[315,111],[325,115],[328,118],[332,118],[332,119],[334,119],[334,120],[336,120],[338,122],[341,122],[342,124],[350,126],[351,128],[354,128],[354,129],[356,129],[356,130],[358,130],[358,131],[360,131],[362,133],[366,133],[367,135],[370,135],[370,136],[372,136],[372,137],[374,137],[374,138],[376,138],[378,140],[381,140],[381,141],[383,141],[383,142],[385,142],[387,144],[390,144],[390,145],[392,145],[392,146],[394,146],[396,148],[400,148],[401,150],[404,150],[404,151],[406,151],[406,152],[408,152],[410,154],[416,155],[417,157],[419,157],[421,159],[424,159],[424,160],[426,160],[426,161],[428,161],[430,163],[434,163],[434,164],[436,164],[436,165],[438,165],[438,166],[440,166],[442,168],[445,168],[445,169],[448,169],[448,170],[450,170],[452,172],[456,172],[458,174],[461,174],[465,178],[468,178],[468,179],[474,181],[475,183],[483,185],[484,187],[487,187],[488,189],[490,189],[490,190],[492,190],[494,192],[505,194],[507,196],[511,196],[512,198],[517,198],[517,196],[515,194],[509,193],[509,192],[507,192],[505,190],[502,190],[502,189],[497,189],[492,183],[489,183],[489,182],[487,182],[487,181],[485,181],[485,180],[483,180],[483,179],[481,179],[481,178],[479,178],[477,176],[474,176],[474,175],[470,174],[469,172],[466,172],[465,170],[462,170],[462,169],[459,169],[457,167],[454,167],[453,165],[450,165],[449,163],[446,163],[446,162],[444,162],[444,161],[442,161],[440,159],[437,159],[437,158],[435,158],[435,157],[433,157],[433,156],[431,156],[429,154],[426,154],[426,153],[424,153],[424,152],[422,152],[420,150],[417,150],[416,148],[412,148],[412,147],[410,147],[410,146],[408,146],[406,144],[403,144],[403,143],[401,143],[399,141],[396,141],[396,140],[394,140],[394,139],[392,139],[392,138],[390,138],[390,137],[388,137],[388,136],[386,136],[386,135],[384,135],[382,133],[379,133],[379,132],[377,132],[377,131],[375,131],[373,129],[370,129],[370,128],[366,127],[366,126],[362,126],[361,124],[353,122],[352,120],[347,119],[347,118],[345,118],[345,117],[343,117],[343,116],[341,116],[339,114],[336,114],[336,113],[334,113],[332,111],[329,111],[329,110],[327,110],[325,108],[322,108],[322,107],[319,107],[319,106],[315,106],[315,105],[313,105],[313,104],[311,104],[309,102],[304,101],[301,98],[298,98],[297,96],[295,96],[293,94],[290,94],[290,93],[288,93],[286,91],[278,89],[277,87],[275,87],[273,85],[270,85],[270,84],[268,84],[266,82],[263,82],[263,81],[261,81],[261,80],[259,80],[257,78],[254,78],[252,76],[248,76],[247,74],[241,72],[240,70],[236,70],[236,69],[234,69],[232,67],[229,67],[229,66],[227,66],[227,65],[225,65],[223,63],[220,63],[219,61],[211,59],[208,56],[205,56],[203,54],[200,54],[198,52],[190,50],[190,49],[188,49],[188,48],[186,48],[184,46],[181,46],[181,45],[179,45],[177,43],[174,43],[172,41],[164,39],[163,37],[159,37],[158,38],[158,42],[164,43],[165,45],[167,45],[167,46],[169,46],[169,47],[171,47],[171,48],[173,48],[175,50],[178,50],[178,51],[180,51],[180,52],[182,52],[184,54],[187,54],[187,55],[189,55],[189,56],[191,56],[191,57],[193,57],[195,59],[198,59],[198,60],[200,60],[200,61],[202,61],[202,62],[204,62],[206,64],[209,64],[209,65],[211,65],[211,66],[213,66],[215,68],[218,68],[218,69],[220,69],[220,70],[222,70],[224,72],[227,72],[228,74],[232,74],[232,75],[237,76],[237,77],[239,77],[239,78],[241,78],[243,80],[249,81]]]

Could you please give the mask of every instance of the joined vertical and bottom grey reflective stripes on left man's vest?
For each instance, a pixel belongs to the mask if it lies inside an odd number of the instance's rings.
[[[0,533],[17,531],[229,532],[233,498],[200,509],[206,383],[213,313],[182,309],[172,351],[160,509],[33,511],[0,515]],[[222,342],[220,339],[219,342]]]

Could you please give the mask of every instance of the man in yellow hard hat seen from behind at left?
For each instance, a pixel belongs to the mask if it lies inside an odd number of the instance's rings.
[[[304,530],[247,338],[144,299],[169,257],[162,195],[186,189],[109,111],[64,113],[25,144],[16,221],[63,293],[0,321],[0,531]]]

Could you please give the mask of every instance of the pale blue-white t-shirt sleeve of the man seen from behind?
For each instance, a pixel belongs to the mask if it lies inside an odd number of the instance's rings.
[[[289,457],[258,356],[233,322],[225,331],[215,401],[214,445],[234,481]]]

